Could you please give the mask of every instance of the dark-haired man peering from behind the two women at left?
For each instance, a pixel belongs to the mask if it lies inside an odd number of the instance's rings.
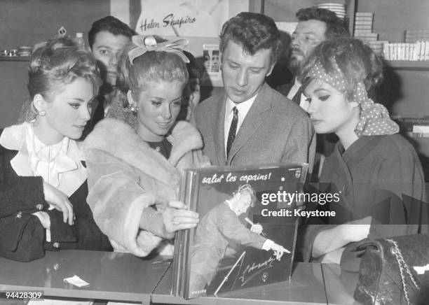
[[[88,33],[90,50],[99,64],[103,85],[100,87],[96,103],[93,104],[91,120],[88,123],[90,126],[86,134],[104,118],[109,110],[116,87],[118,55],[131,42],[133,35],[135,31],[113,16],[95,21]]]

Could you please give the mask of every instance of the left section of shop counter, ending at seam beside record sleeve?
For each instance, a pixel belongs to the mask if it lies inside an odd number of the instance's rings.
[[[130,253],[88,250],[48,251],[33,262],[0,257],[0,291],[43,290],[45,296],[52,297],[149,304],[151,292],[170,262],[164,257],[142,259]],[[89,285],[79,288],[64,282],[73,276]]]

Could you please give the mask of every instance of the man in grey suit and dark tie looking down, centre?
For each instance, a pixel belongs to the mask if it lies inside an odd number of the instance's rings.
[[[193,115],[212,164],[313,162],[308,115],[265,83],[281,49],[271,17],[232,17],[222,27],[219,48],[224,92],[203,101]]]

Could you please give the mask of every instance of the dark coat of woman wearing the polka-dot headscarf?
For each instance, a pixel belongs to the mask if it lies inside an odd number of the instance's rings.
[[[304,229],[306,261],[320,231],[367,216],[372,216],[369,239],[428,233],[423,170],[416,151],[400,134],[361,136],[345,151],[336,143],[317,188],[340,193],[341,200],[317,207],[336,211],[336,217],[325,219],[324,225],[313,225],[320,219],[309,220]],[[348,245],[341,264],[357,257],[359,253],[350,252],[353,246]]]

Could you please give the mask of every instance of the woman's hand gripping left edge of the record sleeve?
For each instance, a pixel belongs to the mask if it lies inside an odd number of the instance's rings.
[[[172,239],[177,230],[196,227],[200,221],[198,213],[186,210],[186,206],[181,201],[170,201],[161,214],[163,215],[164,236],[167,239]]]

